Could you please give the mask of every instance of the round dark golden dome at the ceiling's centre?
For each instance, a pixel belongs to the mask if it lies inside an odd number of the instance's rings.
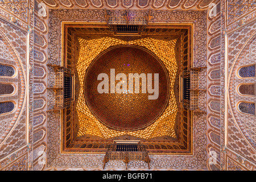
[[[143,47],[125,45],[107,49],[90,64],[84,87],[86,104],[97,119],[123,131],[154,122],[170,92],[163,63]]]

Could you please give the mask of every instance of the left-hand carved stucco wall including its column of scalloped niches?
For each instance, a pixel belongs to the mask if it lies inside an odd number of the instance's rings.
[[[15,109],[0,116],[0,168],[40,170],[38,152],[46,151],[47,134],[47,22],[34,13],[34,1],[0,3],[0,11],[1,63],[17,72],[1,80],[13,82],[16,91],[1,98],[15,101]]]

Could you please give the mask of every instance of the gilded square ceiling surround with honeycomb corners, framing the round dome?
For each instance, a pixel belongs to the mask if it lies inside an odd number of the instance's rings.
[[[97,28],[97,26],[100,28]],[[63,148],[64,152],[104,152],[107,144],[112,139],[142,139],[148,150],[151,152],[191,153],[191,118],[186,110],[184,110],[183,113],[183,110],[179,109],[180,64],[183,63],[183,60],[187,60],[187,55],[191,53],[191,45],[189,44],[191,43],[191,25],[162,24],[162,28],[160,28],[158,25],[152,24],[151,26],[148,26],[146,32],[142,33],[142,36],[138,37],[113,36],[113,33],[108,31],[106,25],[104,28],[104,24],[92,25],[89,23],[64,23],[63,28],[65,32],[63,40],[64,47],[67,46],[67,52],[63,52],[64,60],[66,60],[65,64],[76,72],[75,104],[71,108],[67,109],[67,115],[63,115],[63,131],[65,133],[63,133],[63,136],[68,136],[63,139],[65,146]],[[162,46],[159,47],[159,44]],[[168,94],[170,98],[162,115],[159,115],[159,118],[156,118],[154,123],[143,128],[140,128],[141,126],[139,125],[137,126],[137,123],[129,125],[130,127],[135,127],[136,130],[133,129],[134,131],[129,131],[130,129],[122,131],[123,128],[109,128],[104,123],[98,121],[98,119],[91,113],[91,109],[88,108],[88,105],[86,105],[85,102],[86,94],[84,93],[84,79],[89,65],[98,55],[101,55],[102,51],[108,50],[108,48],[117,45],[126,45],[126,47],[134,45],[145,50],[152,51],[154,56],[159,57],[159,61],[161,61],[163,66],[166,67],[168,73],[167,77],[169,77],[168,82],[170,82],[169,86],[171,90]],[[74,52],[73,55],[71,52]],[[179,52],[182,52],[181,55],[179,55]],[[138,53],[133,53],[134,56],[137,54]],[[121,57],[116,57],[116,59],[114,57],[115,54],[102,58],[103,60],[112,59],[117,61],[121,59]],[[131,57],[127,57],[126,61],[129,62],[130,59]],[[138,59],[141,58],[138,57]],[[129,66],[134,71],[136,64],[132,64],[133,61],[134,60],[130,60]],[[139,60],[137,60],[136,63],[138,61]],[[146,64],[148,60],[141,61]],[[107,62],[111,62],[111,60],[108,60]],[[150,62],[151,64],[153,63],[152,61]],[[117,65],[118,63],[119,62],[114,65]],[[106,63],[102,64],[104,65]],[[102,69],[105,68],[102,64],[98,65],[99,68],[96,70],[102,71]],[[144,64],[140,64],[140,66],[143,67]],[[123,64],[121,64],[121,66],[124,67]],[[102,69],[100,69],[101,67]],[[123,70],[122,67],[120,68],[121,70]],[[118,70],[119,68],[117,71]],[[139,70],[140,69],[138,69],[138,71]],[[161,79],[163,81],[163,78]],[[162,86],[163,85],[164,84],[162,83]],[[162,91],[160,91],[160,94],[161,92]],[[88,96],[90,96],[90,94],[88,94]],[[123,97],[125,96],[126,94],[123,94]],[[118,101],[118,98],[117,101],[112,101],[112,104],[117,105],[118,109],[121,107],[119,105],[121,104],[121,100],[123,100],[122,96],[119,97],[120,101]],[[137,99],[137,97],[131,99],[131,102],[135,102]],[[93,98],[93,100],[95,100],[95,98]],[[106,102],[111,103],[110,101]],[[129,101],[127,101],[127,104],[129,105],[128,102]],[[145,101],[140,101],[138,106],[142,105],[141,102]],[[149,102],[145,104],[149,104]],[[165,101],[163,101],[162,104],[165,104]],[[105,106],[106,105],[108,104],[105,103]],[[135,106],[136,105],[133,104],[131,107]],[[125,109],[125,105],[122,107],[122,109]],[[113,110],[113,106],[109,108]],[[143,114],[145,111],[150,110],[150,108],[145,109],[146,107],[141,107],[136,109],[136,111]],[[114,118],[118,118],[120,112],[118,112],[117,109],[112,110],[109,111],[109,115],[117,114]],[[131,112],[129,112],[129,114],[131,114]],[[150,115],[150,113],[147,115]],[[68,119],[68,125],[65,124],[65,118]],[[73,129],[74,126],[77,126],[76,129]],[[154,141],[155,143],[151,143],[151,141]],[[154,145],[156,147],[153,147]]]

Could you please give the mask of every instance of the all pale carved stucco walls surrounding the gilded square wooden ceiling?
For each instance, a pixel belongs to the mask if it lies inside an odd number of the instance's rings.
[[[45,16],[40,14],[40,2],[46,4]],[[210,9],[214,5],[211,3],[216,3],[217,9]],[[64,143],[61,140],[67,136],[61,132],[63,115],[60,111],[48,111],[53,107],[54,94],[47,89],[53,84],[53,71],[47,64],[62,64],[62,22],[106,23],[105,9],[116,14],[126,9],[137,14],[148,14],[151,10],[150,23],[158,24],[155,32],[163,28],[161,23],[193,24],[192,63],[194,67],[207,67],[199,75],[199,88],[207,89],[206,93],[200,92],[199,106],[207,114],[193,114],[193,154],[156,155],[154,152],[163,151],[164,147],[168,149],[170,143],[155,142],[159,138],[149,142],[144,140],[148,150],[154,153],[150,155],[151,169],[255,170],[255,132],[251,127],[255,117],[242,114],[236,107],[237,101],[251,102],[254,99],[238,94],[237,86],[255,78],[242,80],[236,73],[240,66],[255,64],[251,59],[255,49],[255,1],[7,0],[0,1],[0,7],[1,63],[16,67],[16,61],[20,60],[22,67],[17,64],[16,68],[19,73],[26,73],[22,74],[22,79],[13,79],[21,93],[15,91],[18,95],[1,97],[1,101],[16,101],[19,96],[26,98],[23,105],[15,106],[18,108],[16,114],[7,113],[0,117],[1,133],[4,134],[0,142],[1,170],[102,169],[104,156],[97,154],[97,150],[104,151],[108,142],[98,143],[97,148],[94,142],[99,138],[86,141],[88,143],[77,140],[70,146],[70,153],[63,152],[68,143],[68,140]],[[68,61],[64,60],[64,63]],[[1,78],[1,82],[7,81],[10,80]],[[72,119],[70,113],[66,110],[67,118]],[[67,123],[76,128],[77,123]],[[185,129],[186,125],[183,127]],[[71,132],[70,128],[66,129]],[[91,149],[81,150],[84,144]],[[171,147],[173,151],[182,149],[176,144]],[[213,152],[217,155],[216,163],[211,163]],[[40,162],[42,158],[46,163]],[[129,168],[144,170],[147,166],[131,162]],[[109,162],[105,169],[122,170],[125,166],[122,162]]]

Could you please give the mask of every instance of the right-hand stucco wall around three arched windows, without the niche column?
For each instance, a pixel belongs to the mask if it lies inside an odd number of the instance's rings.
[[[254,1],[243,6],[228,1],[221,6],[221,68],[225,68],[221,85],[226,86],[221,96],[221,168],[230,171],[255,170],[256,117],[241,113],[237,107],[240,101],[256,101],[255,96],[241,96],[237,91],[238,84],[256,82],[255,78],[241,79],[237,75],[241,66],[256,63],[255,6]]]

